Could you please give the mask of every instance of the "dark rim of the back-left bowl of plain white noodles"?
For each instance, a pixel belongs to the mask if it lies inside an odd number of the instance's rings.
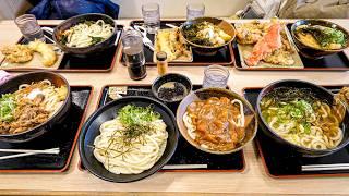
[[[69,46],[65,46],[65,45],[61,44],[61,41],[59,41],[59,40],[57,39],[57,37],[59,37],[59,29],[58,29],[59,27],[61,27],[62,25],[71,22],[71,21],[74,21],[74,20],[80,19],[80,17],[85,17],[85,16],[88,16],[88,15],[97,15],[97,16],[100,16],[100,20],[103,20],[103,21],[104,21],[104,17],[107,17],[108,20],[111,20],[111,21],[113,22],[113,32],[112,32],[112,34],[111,34],[109,37],[107,37],[105,40],[103,40],[103,41],[100,41],[100,42],[97,42],[97,44],[95,44],[95,45],[92,45],[92,46],[87,46],[87,47],[69,47]],[[76,24],[79,24],[79,23],[76,23]],[[75,25],[76,25],[76,24],[75,24]],[[69,25],[69,28],[72,27],[72,26],[73,26],[72,24]],[[80,14],[80,15],[75,15],[75,16],[69,17],[69,19],[64,20],[63,22],[61,22],[60,24],[58,24],[58,25],[53,28],[52,38],[53,38],[53,40],[55,40],[55,44],[58,45],[59,47],[63,48],[63,49],[77,49],[77,50],[82,50],[82,49],[87,49],[87,48],[91,48],[91,47],[100,46],[101,44],[104,44],[104,42],[106,42],[107,40],[109,40],[109,39],[116,34],[117,30],[118,30],[118,29],[117,29],[117,23],[116,23],[116,21],[115,21],[112,17],[110,17],[109,15],[103,14],[103,13],[85,13],[85,14]]]

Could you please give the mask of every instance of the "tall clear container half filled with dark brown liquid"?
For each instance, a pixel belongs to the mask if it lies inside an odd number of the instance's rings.
[[[137,81],[146,76],[145,58],[142,35],[139,30],[128,29],[121,36],[123,60],[129,75]]]

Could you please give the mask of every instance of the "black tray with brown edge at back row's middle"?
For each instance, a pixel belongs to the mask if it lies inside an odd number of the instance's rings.
[[[184,21],[176,21],[176,20],[163,20],[160,22],[160,28],[169,28],[166,26],[166,24],[172,24],[176,26],[180,26]],[[131,26],[133,25],[140,25],[143,26],[143,21],[132,21],[130,23]],[[147,37],[152,40],[154,44],[154,35],[147,34]],[[153,61],[154,52],[144,46],[144,56],[145,56],[145,64],[149,66],[156,65],[156,63]],[[123,58],[122,52],[120,57],[120,61],[122,64]],[[232,65],[234,63],[234,56],[232,51],[232,46],[228,45],[227,47],[220,49],[217,54],[215,56],[200,56],[193,51],[193,61],[192,62],[169,62],[169,65],[179,65],[179,66],[205,66],[210,64],[220,64],[220,65]]]

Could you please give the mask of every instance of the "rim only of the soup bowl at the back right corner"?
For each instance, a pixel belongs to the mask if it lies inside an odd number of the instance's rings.
[[[332,25],[336,25],[344,34],[346,34],[347,36],[347,45],[342,48],[339,48],[339,49],[320,49],[320,48],[315,48],[315,47],[312,47],[312,46],[308,46],[305,44],[303,44],[303,41],[301,41],[298,36],[296,35],[296,29],[297,27],[299,26],[299,23],[300,22],[321,22],[321,23],[327,23],[327,24],[332,24]],[[326,20],[317,20],[317,19],[304,19],[304,20],[298,20],[296,21],[292,25],[291,25],[291,36],[293,39],[296,39],[297,41],[299,41],[300,44],[302,44],[303,46],[305,46],[306,48],[309,49],[313,49],[313,50],[317,50],[317,51],[323,51],[323,52],[336,52],[336,51],[341,51],[341,50],[345,50],[346,48],[349,47],[349,32],[344,28],[342,26],[336,24],[336,23],[333,23],[330,21],[326,21]]]

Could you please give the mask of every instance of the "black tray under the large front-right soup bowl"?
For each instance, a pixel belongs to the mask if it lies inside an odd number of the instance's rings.
[[[332,93],[338,93],[342,86],[324,86]],[[245,88],[244,97],[255,107],[257,96],[262,88]],[[349,163],[349,146],[320,158],[305,158],[292,154],[282,146],[268,138],[263,131],[258,130],[255,138],[256,148],[262,158],[266,173],[276,179],[311,177],[311,176],[349,176],[349,170],[321,170],[302,171],[306,164],[335,164]]]

